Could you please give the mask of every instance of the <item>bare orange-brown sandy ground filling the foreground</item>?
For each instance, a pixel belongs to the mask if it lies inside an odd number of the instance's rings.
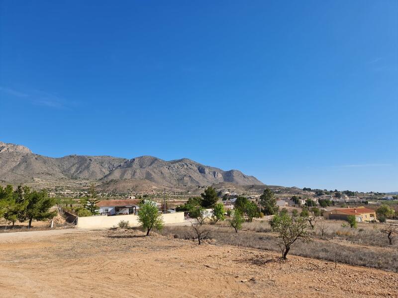
[[[398,297],[396,273],[278,257],[137,230],[3,233],[0,297]]]

